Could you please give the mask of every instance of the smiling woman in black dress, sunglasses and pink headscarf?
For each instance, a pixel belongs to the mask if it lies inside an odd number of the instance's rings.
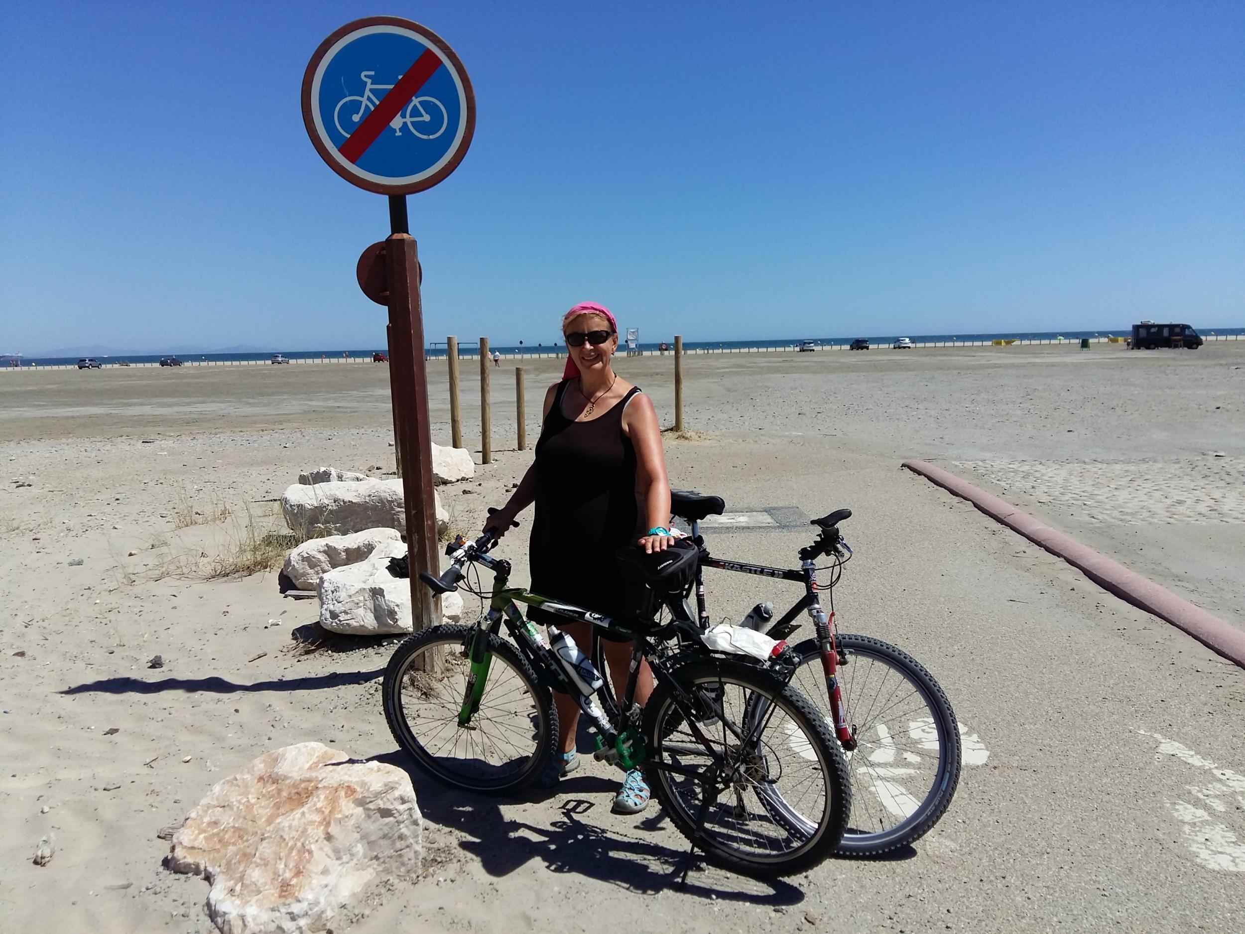
[[[529,503],[532,522],[532,589],[606,616],[627,619],[634,593],[624,585],[614,553],[627,544],[646,552],[674,543],[670,481],[661,452],[661,428],[652,402],[614,372],[618,323],[609,309],[590,301],[575,305],[561,320],[566,340],[563,380],[545,392],[544,425],[535,462],[510,501],[484,528],[504,533]],[[591,626],[533,610],[533,618],[565,631],[584,654],[591,654]],[[605,659],[613,684],[624,685],[631,664],[631,643],[606,641]],[[635,700],[645,704],[652,672],[641,665]],[[558,752],[537,781],[552,788],[579,767],[575,727],[579,705],[554,694],[558,706]],[[649,786],[639,768],[622,780],[614,798],[616,813],[634,814],[649,803]]]

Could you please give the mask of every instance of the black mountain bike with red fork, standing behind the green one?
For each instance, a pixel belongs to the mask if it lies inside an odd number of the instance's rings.
[[[798,569],[713,558],[705,547],[698,523],[720,516],[721,497],[671,493],[671,512],[690,523],[691,540],[700,549],[696,568],[696,603],[702,629],[710,625],[702,568],[757,574],[804,585],[804,595],[779,619],[749,620],[772,639],[786,639],[799,628],[799,616],[813,620],[814,636],[794,646],[799,664],[791,682],[833,725],[852,773],[852,821],[838,852],[844,856],[879,856],[920,839],[942,817],[960,781],[960,732],[946,694],[934,676],[908,653],[867,635],[842,634],[834,624],[834,585],[850,560],[839,523],[850,509],[813,519],[817,539],[799,549]],[[817,567],[819,558],[829,564]],[[829,570],[818,582],[817,572]],[[829,595],[830,611],[822,609]],[[757,625],[759,623],[759,625]],[[604,646],[596,639],[594,659],[604,665]],[[610,685],[601,702],[614,710]]]

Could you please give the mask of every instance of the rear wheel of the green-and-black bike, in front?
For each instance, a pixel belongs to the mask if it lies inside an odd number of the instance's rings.
[[[707,659],[672,674],[696,699],[692,721],[707,741],[660,682],[645,705],[645,775],[680,833],[748,875],[803,872],[833,853],[850,790],[824,717],[751,665]]]

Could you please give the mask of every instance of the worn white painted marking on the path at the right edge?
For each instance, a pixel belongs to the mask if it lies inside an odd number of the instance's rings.
[[[1201,786],[1186,785],[1185,788],[1190,797],[1200,800],[1213,811],[1224,814],[1224,819],[1230,813],[1245,809],[1245,776],[1220,767],[1175,740],[1168,740],[1147,730],[1137,732],[1158,740],[1158,747],[1154,752],[1155,760],[1172,756],[1191,768],[1210,772],[1219,780]],[[1236,803],[1229,807],[1225,798],[1235,798]],[[1180,836],[1194,859],[1216,872],[1245,873],[1245,843],[1228,824],[1219,823],[1205,808],[1186,801],[1169,801],[1167,804],[1175,819],[1180,822]]]

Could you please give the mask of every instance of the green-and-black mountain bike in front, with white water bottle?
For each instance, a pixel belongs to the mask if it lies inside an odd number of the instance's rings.
[[[518,524],[518,523],[515,523]],[[670,621],[614,620],[508,587],[510,564],[489,557],[497,537],[458,539],[437,593],[457,589],[464,568],[493,572],[474,625],[438,625],[406,639],[385,670],[385,719],[398,745],[430,775],[484,793],[517,791],[550,761],[558,737],[552,691],[573,696],[596,734],[596,758],[641,766],[675,827],[710,862],[752,875],[803,872],[830,856],[848,823],[850,786],[824,717],[788,685],[798,659],[768,661],[710,651],[687,597],[693,548],[620,555],[669,611]],[[659,559],[659,560],[654,560]],[[611,695],[613,717],[594,696],[601,677],[557,626],[548,641],[515,603],[591,623],[634,640],[631,671],[647,659],[655,687],[634,702],[636,676]],[[665,616],[665,613],[662,614]],[[505,628],[513,639],[507,641]],[[667,643],[681,648],[671,650]],[[550,648],[553,646],[553,648]],[[578,655],[578,658],[576,658]]]

